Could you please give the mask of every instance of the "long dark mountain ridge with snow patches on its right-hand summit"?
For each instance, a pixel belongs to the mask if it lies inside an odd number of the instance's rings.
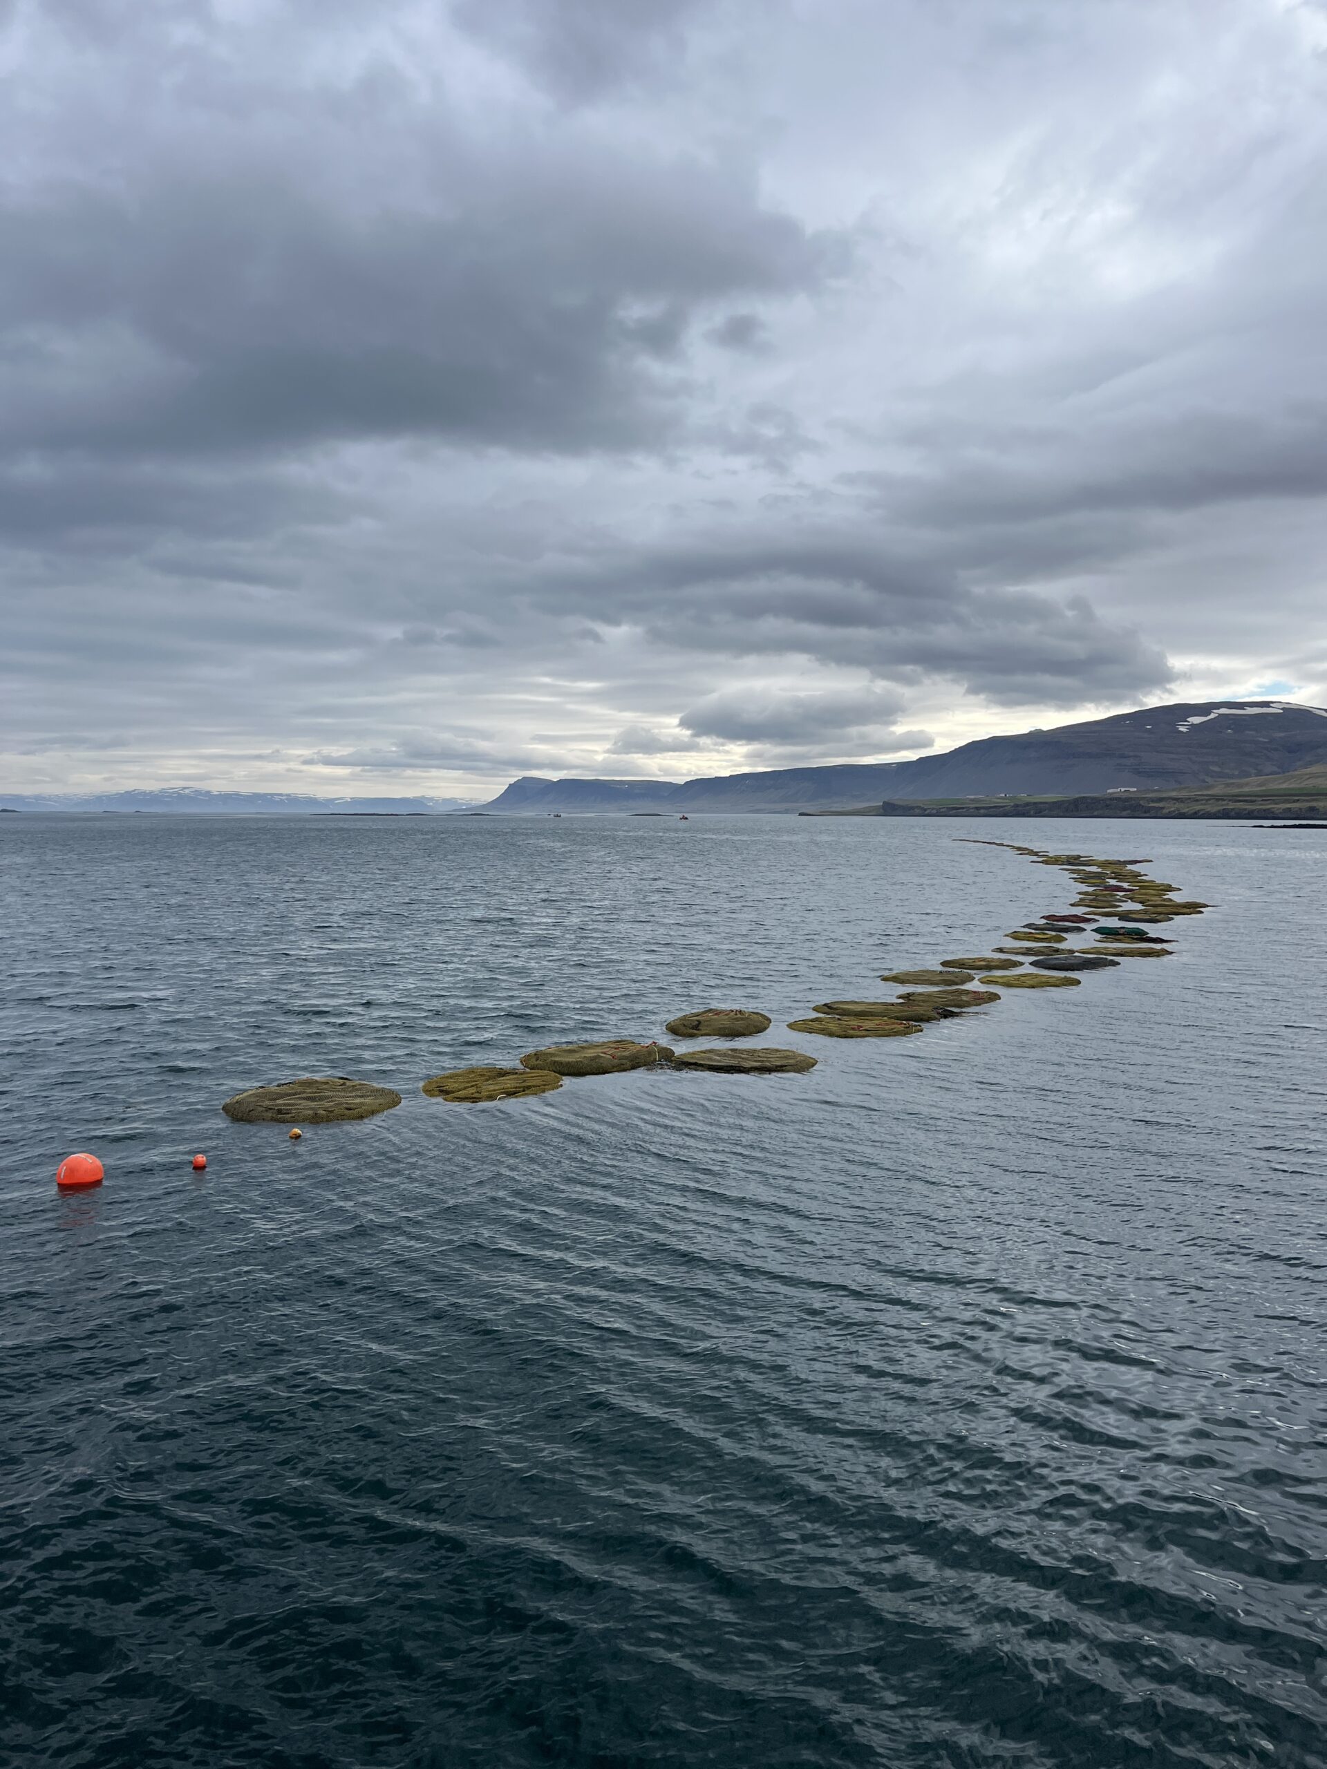
[[[881,800],[1166,791],[1327,762],[1327,708],[1288,701],[1150,706],[980,738],[911,762],[777,768],[701,780],[515,780],[485,810],[846,810]]]

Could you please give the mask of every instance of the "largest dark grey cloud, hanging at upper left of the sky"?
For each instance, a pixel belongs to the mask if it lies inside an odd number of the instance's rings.
[[[685,156],[513,156],[435,182],[368,214],[281,166],[11,200],[0,448],[630,448],[674,423],[697,313],[830,262],[740,173]]]

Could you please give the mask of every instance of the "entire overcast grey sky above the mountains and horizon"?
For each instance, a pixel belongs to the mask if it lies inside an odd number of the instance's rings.
[[[1327,702],[1316,0],[0,0],[14,791]]]

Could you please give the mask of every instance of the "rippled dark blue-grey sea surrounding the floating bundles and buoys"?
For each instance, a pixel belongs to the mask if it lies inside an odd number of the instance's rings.
[[[784,1031],[1067,904],[964,833],[1219,907],[922,1037]],[[0,819],[4,1762],[1322,1764],[1325,863]],[[706,1005],[819,1067],[418,1091]],[[405,1102],[219,1113],[306,1072]]]

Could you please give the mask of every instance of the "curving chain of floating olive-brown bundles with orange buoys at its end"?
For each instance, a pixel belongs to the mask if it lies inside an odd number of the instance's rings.
[[[1182,902],[1178,884],[1164,884],[1138,869],[1147,860],[1101,860],[1095,854],[1047,854],[1017,842],[955,837],[978,847],[1005,847],[1040,867],[1067,872],[1079,895],[1067,911],[1042,915],[1005,934],[986,957],[940,959],[936,969],[885,971],[881,982],[899,991],[892,1001],[833,999],[817,1003],[805,1019],[787,1022],[789,1031],[823,1038],[909,1038],[941,1019],[954,1019],[1000,1001],[1001,989],[1078,989],[1081,973],[1115,969],[1124,959],[1164,959],[1171,938],[1152,929],[1185,915],[1201,915],[1210,904]],[[1070,945],[1090,939],[1090,945]],[[978,987],[971,987],[971,985]],[[750,1008],[701,1008],[679,1014],[665,1026],[674,1038],[752,1038],[770,1030],[770,1015]],[[488,1104],[552,1093],[566,1076],[619,1076],[632,1068],[678,1068],[720,1076],[805,1074],[816,1058],[805,1051],[727,1042],[708,1049],[683,1049],[649,1040],[600,1038],[591,1044],[552,1044],[527,1051],[518,1067],[483,1065],[449,1068],[423,1084],[428,1099],[451,1104]],[[223,1102],[221,1111],[239,1123],[343,1123],[373,1118],[400,1106],[395,1088],[347,1076],[304,1076],[276,1086],[248,1088]],[[290,1130],[299,1141],[301,1130]],[[193,1157],[196,1171],[207,1159]],[[94,1155],[69,1155],[57,1175],[62,1191],[101,1185],[103,1168]]]

